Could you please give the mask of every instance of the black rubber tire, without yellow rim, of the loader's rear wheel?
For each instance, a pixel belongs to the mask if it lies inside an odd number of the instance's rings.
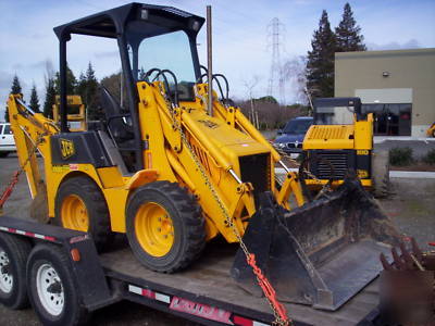
[[[55,212],[53,224],[62,226],[61,204],[69,195],[76,195],[86,205],[89,218],[88,233],[91,235],[98,252],[112,243],[113,233],[110,227],[110,214],[104,196],[98,186],[85,176],[72,177],[64,181],[55,196]]]

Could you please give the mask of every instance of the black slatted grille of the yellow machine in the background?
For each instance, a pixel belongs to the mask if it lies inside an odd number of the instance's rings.
[[[331,165],[334,168],[334,179],[343,179],[349,168],[348,154],[346,152],[318,152],[314,171],[312,173],[320,179],[331,177]]]

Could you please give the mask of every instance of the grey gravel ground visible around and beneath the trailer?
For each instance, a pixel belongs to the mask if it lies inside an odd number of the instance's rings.
[[[0,189],[4,189],[13,171],[16,156],[0,159]],[[413,236],[424,249],[435,240],[435,179],[393,179],[394,195],[381,200],[385,212],[399,229]],[[3,214],[28,218],[29,192],[22,177]],[[0,325],[39,325],[32,309],[10,311],[0,305]],[[192,325],[184,319],[130,302],[121,302],[95,313],[92,325]]]

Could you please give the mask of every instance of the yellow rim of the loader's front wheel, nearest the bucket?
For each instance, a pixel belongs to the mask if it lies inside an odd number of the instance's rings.
[[[136,238],[152,256],[167,254],[174,244],[174,226],[167,211],[156,202],[144,203],[135,216]]]

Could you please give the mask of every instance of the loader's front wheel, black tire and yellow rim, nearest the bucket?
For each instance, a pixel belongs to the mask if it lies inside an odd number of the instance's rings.
[[[206,244],[201,208],[177,184],[148,184],[128,201],[127,238],[136,258],[150,269],[182,269],[199,256]]]

